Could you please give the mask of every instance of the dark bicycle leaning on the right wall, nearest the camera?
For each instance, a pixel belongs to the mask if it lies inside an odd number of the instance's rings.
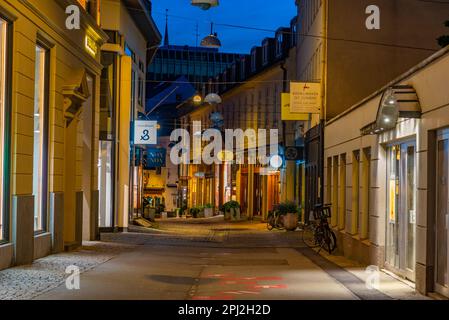
[[[316,205],[313,211],[314,219],[304,226],[302,240],[309,248],[324,247],[332,254],[337,248],[337,237],[329,226],[331,217],[331,205]]]

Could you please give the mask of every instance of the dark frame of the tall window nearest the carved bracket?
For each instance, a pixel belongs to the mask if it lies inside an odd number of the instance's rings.
[[[44,124],[42,130],[44,131],[42,136],[42,195],[41,195],[41,225],[42,228],[38,230],[34,230],[35,235],[43,234],[49,232],[49,163],[50,163],[50,155],[49,155],[49,128],[50,128],[50,56],[51,56],[51,46],[39,36],[37,37],[35,47],[40,47],[45,51],[44,63]],[[34,150],[33,150],[34,152]],[[34,175],[34,172],[33,172]],[[34,209],[36,210],[36,208]],[[35,212],[35,211],[34,211]]]

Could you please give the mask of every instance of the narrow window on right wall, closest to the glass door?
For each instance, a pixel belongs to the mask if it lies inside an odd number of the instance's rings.
[[[370,201],[371,149],[362,152],[361,221],[360,238],[369,238],[369,201]]]

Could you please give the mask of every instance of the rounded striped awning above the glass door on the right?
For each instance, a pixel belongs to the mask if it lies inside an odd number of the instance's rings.
[[[362,135],[379,134],[396,128],[399,119],[421,118],[421,104],[413,86],[397,85],[384,91],[376,121],[360,129]]]

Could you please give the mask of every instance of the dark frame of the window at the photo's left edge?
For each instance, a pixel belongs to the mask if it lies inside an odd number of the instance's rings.
[[[10,242],[11,238],[11,106],[12,106],[12,66],[13,66],[13,21],[0,12],[0,19],[6,23],[5,36],[5,87],[4,87],[4,105],[3,112],[4,129],[3,129],[3,176],[0,193],[3,197],[2,201],[2,232],[3,237],[0,238],[0,245]]]

